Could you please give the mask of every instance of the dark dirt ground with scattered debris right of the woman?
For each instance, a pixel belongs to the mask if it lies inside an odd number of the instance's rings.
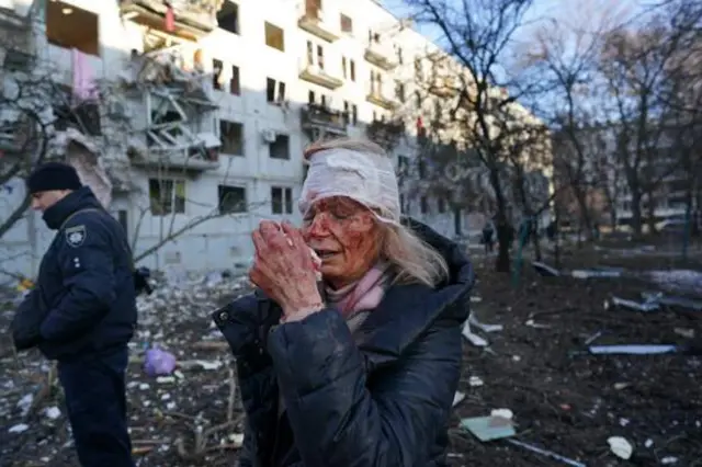
[[[487,335],[495,353],[466,343],[467,397],[454,411],[454,425],[508,408],[517,440],[587,466],[702,465],[700,357],[585,352],[598,332],[592,344],[682,344],[687,338],[676,330],[699,337],[702,312],[605,309],[612,295],[639,299],[642,291],[655,289],[635,280],[541,277],[525,271],[514,287],[487,267],[477,270],[476,295],[483,300],[473,308],[482,321],[505,330]],[[540,327],[528,326],[530,320]],[[469,387],[471,376],[484,386]],[[452,433],[455,466],[566,465],[503,441],[480,443],[461,430]],[[634,446],[630,460],[610,453],[610,436]]]

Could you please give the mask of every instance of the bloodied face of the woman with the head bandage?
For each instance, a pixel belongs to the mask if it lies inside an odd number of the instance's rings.
[[[360,280],[377,261],[376,217],[351,198],[336,196],[313,203],[302,232],[321,259],[322,277],[335,288]]]

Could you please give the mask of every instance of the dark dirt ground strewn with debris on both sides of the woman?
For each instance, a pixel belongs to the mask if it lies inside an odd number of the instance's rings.
[[[563,263],[570,267],[607,261],[616,265],[618,258],[631,262],[627,267],[660,266],[659,260],[620,258],[601,249],[568,251]],[[451,422],[452,465],[566,465],[505,440],[482,443],[457,428],[461,418],[505,408],[513,412],[514,440],[587,466],[702,466],[702,358],[596,356],[587,353],[586,344],[598,332],[592,344],[682,344],[690,335],[702,335],[702,311],[605,309],[604,301],[613,295],[638,299],[641,292],[656,287],[636,278],[543,277],[526,262],[514,284],[492,272],[491,261],[479,253],[474,257],[478,283],[472,308],[480,321],[505,328],[480,333],[488,348],[465,341],[460,390],[466,398]],[[690,261],[689,267],[702,271],[702,264]],[[215,301],[224,300],[220,295]],[[128,396],[138,465],[233,465],[241,413],[237,397],[231,398],[230,360],[207,319],[212,306],[190,314],[183,309],[192,308],[192,300],[179,306],[162,300],[159,306],[180,319],[159,315],[143,324],[135,340]],[[138,352],[145,335],[186,364],[172,377],[145,375]],[[0,387],[0,466],[77,465],[57,388],[36,396],[45,388],[48,366],[35,355],[18,361],[7,351],[7,335],[0,339],[0,381],[13,381]],[[476,376],[484,384],[472,387],[469,378]],[[24,413],[21,399],[27,392],[35,394],[35,402]],[[49,417],[50,408],[61,414]],[[24,431],[9,432],[21,423]],[[610,452],[610,436],[622,436],[634,446],[630,460]]]

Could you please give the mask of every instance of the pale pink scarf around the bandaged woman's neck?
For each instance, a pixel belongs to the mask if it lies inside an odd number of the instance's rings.
[[[353,284],[336,291],[327,287],[329,304],[337,306],[344,318],[377,307],[385,295],[386,271],[387,265],[376,265]]]

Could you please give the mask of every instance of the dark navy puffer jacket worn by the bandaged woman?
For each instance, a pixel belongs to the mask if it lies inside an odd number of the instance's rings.
[[[411,227],[444,255],[450,280],[390,286],[353,335],[333,308],[278,326],[280,307],[260,292],[213,315],[237,362],[241,467],[445,465],[474,276],[457,246]]]

